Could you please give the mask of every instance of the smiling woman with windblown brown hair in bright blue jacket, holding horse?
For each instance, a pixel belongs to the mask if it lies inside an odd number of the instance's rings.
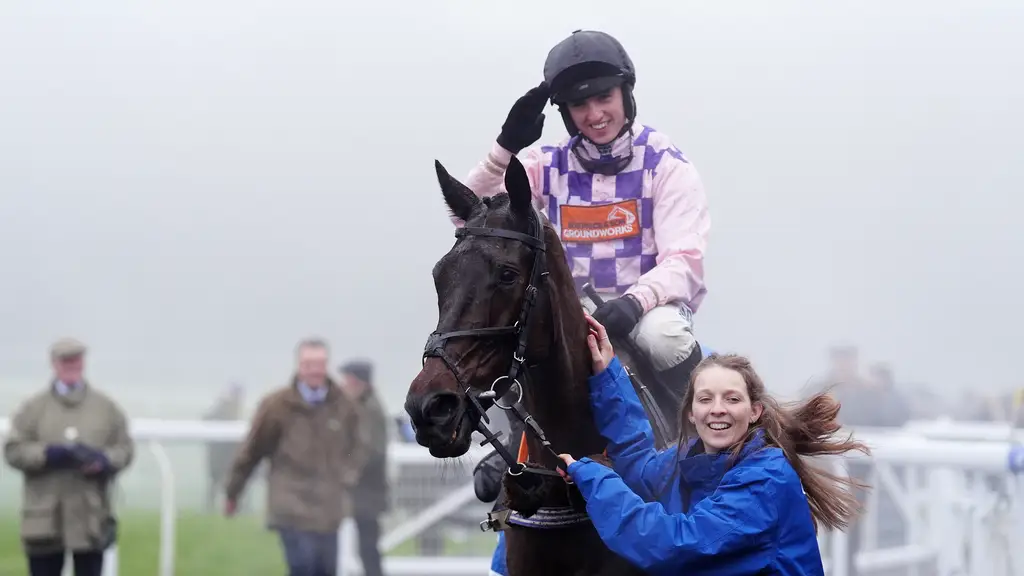
[[[588,322],[591,405],[614,469],[561,458],[604,543],[658,575],[822,575],[817,527],[846,527],[857,501],[849,480],[802,457],[867,453],[835,438],[839,404],[819,394],[783,409],[749,360],[712,355],[690,378],[679,443],[657,452],[604,327]]]

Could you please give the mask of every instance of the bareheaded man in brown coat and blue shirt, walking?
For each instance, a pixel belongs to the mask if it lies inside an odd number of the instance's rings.
[[[290,385],[260,402],[231,466],[226,513],[263,458],[267,526],[275,530],[291,576],[334,576],[338,527],[349,515],[348,491],[367,460],[368,440],[353,402],[328,377],[329,351],[319,339],[297,348]]]

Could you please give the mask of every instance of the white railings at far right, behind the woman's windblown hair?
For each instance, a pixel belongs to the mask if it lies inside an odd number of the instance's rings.
[[[908,574],[1024,576],[1013,542],[1024,539],[1024,467],[1021,430],[999,423],[922,422],[901,428],[858,428],[872,451],[865,534],[855,565],[861,574],[905,567]],[[836,470],[845,474],[843,459]],[[904,480],[895,474],[900,468]],[[907,524],[908,543],[879,549],[879,495],[892,495]],[[849,576],[842,559],[849,536],[829,535],[831,576]],[[823,546],[824,550],[825,547]],[[933,570],[927,567],[932,565]]]

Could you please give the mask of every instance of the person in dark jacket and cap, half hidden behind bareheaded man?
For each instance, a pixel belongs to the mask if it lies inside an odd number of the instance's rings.
[[[352,489],[352,513],[359,534],[359,557],[366,576],[381,576],[380,517],[388,509],[388,418],[373,386],[373,364],[353,360],[339,368],[342,388],[355,403],[370,441],[370,458]]]

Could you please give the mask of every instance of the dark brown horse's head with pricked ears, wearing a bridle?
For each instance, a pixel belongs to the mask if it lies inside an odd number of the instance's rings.
[[[436,169],[444,201],[465,227],[434,265],[437,328],[406,411],[416,441],[436,457],[452,457],[469,449],[483,410],[503,397],[503,404],[521,398],[523,359],[543,361],[557,338],[552,308],[559,297],[550,293],[548,263],[569,290],[571,279],[557,236],[532,207],[518,160],[505,172],[507,194],[485,199],[439,163]]]

